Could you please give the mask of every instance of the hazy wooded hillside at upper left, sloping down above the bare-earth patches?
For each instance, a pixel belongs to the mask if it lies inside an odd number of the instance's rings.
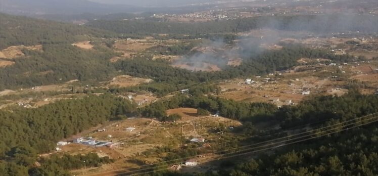
[[[0,14],[0,49],[17,45],[72,43],[87,36],[110,37],[114,33],[27,17]]]

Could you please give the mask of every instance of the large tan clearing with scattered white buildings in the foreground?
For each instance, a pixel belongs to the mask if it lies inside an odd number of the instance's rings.
[[[97,129],[105,128],[103,132],[92,130],[82,136],[91,136],[96,140],[113,141],[119,145],[112,149],[91,148],[87,146],[78,146],[70,144],[62,147],[63,151],[68,153],[86,153],[97,152],[104,156],[110,156],[116,161],[111,164],[91,169],[74,170],[79,175],[96,175],[99,172],[107,172],[109,175],[115,169],[127,169],[136,167],[140,164],[150,164],[159,162],[165,154],[146,154],[156,147],[171,146],[179,148],[182,138],[190,140],[191,137],[202,137],[208,140],[211,146],[218,144],[219,135],[212,133],[211,129],[218,126],[240,126],[239,121],[223,117],[195,117],[197,109],[177,108],[167,111],[168,113],[181,113],[189,120],[180,120],[177,122],[160,122],[148,118],[129,118],[122,121],[112,122],[104,126],[98,126]],[[134,127],[132,131],[127,131],[127,127]],[[109,135],[112,137],[109,138]],[[225,133],[223,135],[234,135]],[[208,150],[211,151],[211,148]],[[109,172],[108,172],[109,171]]]

